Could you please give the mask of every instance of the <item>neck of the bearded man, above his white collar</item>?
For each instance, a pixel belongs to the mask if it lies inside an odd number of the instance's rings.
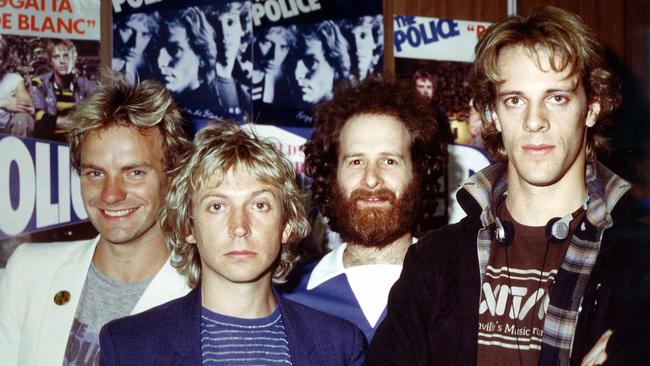
[[[349,242],[343,253],[345,268],[366,264],[398,264],[404,262],[406,251],[413,242],[413,235],[407,233],[383,248],[369,247]]]

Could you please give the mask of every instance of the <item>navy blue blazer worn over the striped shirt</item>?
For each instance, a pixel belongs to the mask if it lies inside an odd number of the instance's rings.
[[[201,291],[113,320],[99,335],[100,365],[201,365]],[[363,365],[353,324],[277,296],[294,366]]]

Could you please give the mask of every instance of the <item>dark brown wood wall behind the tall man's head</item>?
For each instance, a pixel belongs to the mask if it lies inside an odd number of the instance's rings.
[[[517,14],[542,5],[578,14],[607,47],[621,75],[623,105],[613,130],[611,157],[605,163],[634,183],[633,192],[650,210],[650,0],[517,0]],[[384,0],[386,75],[395,74],[392,16],[494,22],[508,15],[508,0]]]

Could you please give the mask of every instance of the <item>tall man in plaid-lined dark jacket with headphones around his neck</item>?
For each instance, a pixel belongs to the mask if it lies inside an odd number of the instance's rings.
[[[462,183],[465,219],[409,250],[369,365],[650,364],[650,232],[596,161],[621,99],[602,54],[552,7],[483,35],[474,106],[498,162]]]

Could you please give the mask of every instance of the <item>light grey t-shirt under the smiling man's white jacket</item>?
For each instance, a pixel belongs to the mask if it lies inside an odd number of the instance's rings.
[[[149,282],[151,278],[137,283],[116,281],[91,264],[68,337],[63,365],[98,364],[102,326],[131,314]]]

